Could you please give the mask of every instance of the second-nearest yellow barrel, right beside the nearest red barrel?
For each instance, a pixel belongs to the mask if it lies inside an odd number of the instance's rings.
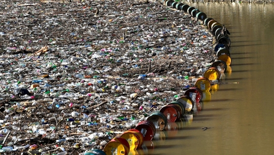
[[[136,129],[135,129],[136,130]],[[137,130],[138,131],[138,130]],[[140,134],[136,134],[136,131],[125,131],[120,138],[124,138],[128,144],[130,149],[137,149],[140,146],[142,146],[144,142],[143,135],[140,131],[138,131]]]

